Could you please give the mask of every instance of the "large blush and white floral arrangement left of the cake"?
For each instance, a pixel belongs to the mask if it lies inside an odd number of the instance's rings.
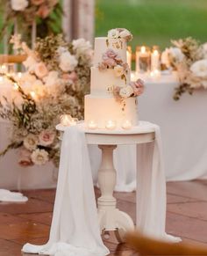
[[[89,90],[92,50],[83,39],[67,43],[61,35],[39,39],[31,50],[20,36],[14,48],[27,55],[22,77],[4,75],[14,84],[12,99],[0,102],[0,116],[11,121],[11,143],[0,154],[19,149],[18,163],[58,165],[60,144],[55,130],[63,113],[81,120],[84,94]],[[12,93],[13,94],[13,93]]]

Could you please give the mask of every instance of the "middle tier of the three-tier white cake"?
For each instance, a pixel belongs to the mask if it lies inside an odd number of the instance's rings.
[[[100,71],[96,67],[90,69],[90,93],[92,95],[109,95],[107,90],[111,86],[125,87],[130,83],[130,70],[125,75],[125,79],[116,77],[113,69]]]

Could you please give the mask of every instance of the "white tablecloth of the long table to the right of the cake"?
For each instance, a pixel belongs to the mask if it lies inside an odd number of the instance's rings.
[[[173,99],[178,83],[173,76],[153,82],[139,97],[139,118],[161,127],[168,180],[204,178],[207,174],[207,91],[196,90]]]

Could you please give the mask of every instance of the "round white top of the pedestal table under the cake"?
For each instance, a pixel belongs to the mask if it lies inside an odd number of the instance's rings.
[[[84,123],[81,122],[77,125],[81,128],[86,135],[88,144],[95,145],[126,145],[126,144],[139,144],[150,143],[154,141],[155,129],[154,125],[150,122],[139,121],[139,126],[131,129],[89,129],[86,128]],[[56,126],[56,129],[62,133],[67,127],[61,124]]]

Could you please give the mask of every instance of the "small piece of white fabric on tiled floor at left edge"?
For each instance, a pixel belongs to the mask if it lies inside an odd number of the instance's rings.
[[[28,198],[18,192],[11,192],[7,189],[0,189],[0,201],[25,202],[28,201]]]

